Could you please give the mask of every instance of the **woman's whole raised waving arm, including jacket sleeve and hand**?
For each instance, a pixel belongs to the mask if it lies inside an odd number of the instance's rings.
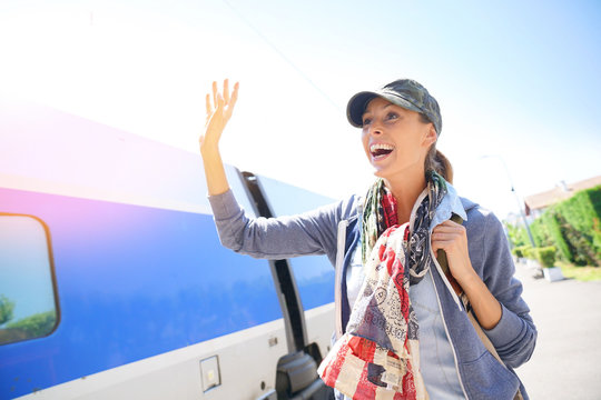
[[[219,153],[219,139],[231,118],[238,98],[238,83],[229,93],[229,82],[224,81],[223,94],[213,82],[213,94],[206,97],[207,121],[200,137],[200,154],[213,209],[215,224],[221,243],[255,258],[280,259],[302,254],[327,253],[333,259],[336,227],[345,212],[339,202],[298,216],[280,218],[248,218],[229,190],[224,163]]]

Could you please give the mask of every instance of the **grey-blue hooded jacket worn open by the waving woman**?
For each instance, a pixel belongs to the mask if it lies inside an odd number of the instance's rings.
[[[484,332],[506,366],[485,349],[465,309],[436,268],[434,287],[463,392],[467,399],[509,400],[520,388],[528,399],[513,368],[530,359],[536,329],[521,298],[522,284],[513,277],[515,267],[503,227],[492,212],[459,198],[452,186],[449,189],[450,196],[437,208],[431,229],[450,219],[451,212],[464,219],[472,266],[502,307],[499,323]],[[211,196],[209,201],[221,243],[236,252],[263,259],[327,256],[336,267],[336,333],[339,337],[351,312],[346,280],[342,277],[346,276],[359,240],[362,199],[352,196],[306,213],[270,219],[245,216],[231,191]]]

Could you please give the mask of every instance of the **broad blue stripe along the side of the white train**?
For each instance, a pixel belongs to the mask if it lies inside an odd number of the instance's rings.
[[[224,249],[209,214],[7,189],[0,212],[48,224],[61,314],[0,346],[2,399],[282,318],[267,262]],[[305,309],[333,301],[332,267],[311,259]]]

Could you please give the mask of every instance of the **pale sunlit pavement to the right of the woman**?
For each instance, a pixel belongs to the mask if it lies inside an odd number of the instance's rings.
[[[516,264],[539,337],[516,369],[532,400],[601,399],[601,281],[534,279]]]

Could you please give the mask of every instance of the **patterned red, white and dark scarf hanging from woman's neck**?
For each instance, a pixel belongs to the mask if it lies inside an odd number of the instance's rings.
[[[396,201],[382,180],[365,200],[362,251],[365,281],[346,333],[319,366],[324,382],[353,399],[427,399],[420,373],[418,324],[408,296],[430,268],[430,222],[446,193],[435,172],[408,223],[398,226]]]

